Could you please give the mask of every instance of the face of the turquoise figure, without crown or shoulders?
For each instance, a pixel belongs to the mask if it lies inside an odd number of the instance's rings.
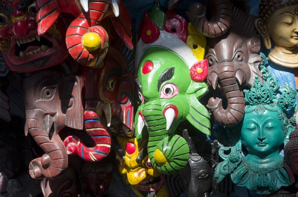
[[[264,105],[264,108],[270,109],[271,106]],[[285,134],[277,111],[265,110],[258,116],[258,112],[249,110],[246,109],[241,130],[241,143],[248,151],[246,160],[250,156],[272,161],[282,159],[279,148],[284,143]]]

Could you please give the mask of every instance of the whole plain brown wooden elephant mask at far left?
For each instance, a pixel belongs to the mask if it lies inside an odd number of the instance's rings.
[[[66,75],[60,66],[23,75],[25,133],[46,153],[31,161],[32,178],[56,178],[67,168],[67,150],[59,132],[65,127],[82,130],[82,86],[81,76]]]

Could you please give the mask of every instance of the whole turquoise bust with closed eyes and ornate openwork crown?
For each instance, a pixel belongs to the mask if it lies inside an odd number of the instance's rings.
[[[297,90],[288,84],[279,88],[270,72],[263,73],[266,75],[263,82],[256,76],[251,89],[244,90],[244,119],[238,133],[227,131],[226,141],[219,150],[224,161],[217,166],[215,177],[221,182],[230,174],[238,186],[258,194],[270,194],[291,184],[279,153],[294,130],[293,114],[288,118],[287,110],[293,110],[296,105]],[[281,92],[279,97],[277,90]],[[226,154],[226,150],[230,153]]]

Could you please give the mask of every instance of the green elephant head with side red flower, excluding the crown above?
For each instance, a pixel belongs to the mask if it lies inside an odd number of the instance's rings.
[[[199,131],[210,134],[209,113],[198,101],[208,87],[203,80],[193,80],[207,75],[207,69],[207,61],[197,62],[190,69],[176,53],[156,46],[148,48],[141,58],[136,137],[141,141],[149,135],[149,159],[162,173],[181,171],[189,159],[186,140],[175,134],[182,121],[188,120]]]

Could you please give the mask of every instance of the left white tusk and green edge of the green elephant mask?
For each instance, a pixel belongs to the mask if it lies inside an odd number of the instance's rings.
[[[139,106],[135,116],[135,134],[138,142],[148,137],[147,127],[145,126],[142,116],[139,114],[139,112],[142,112],[142,110],[142,107]]]

